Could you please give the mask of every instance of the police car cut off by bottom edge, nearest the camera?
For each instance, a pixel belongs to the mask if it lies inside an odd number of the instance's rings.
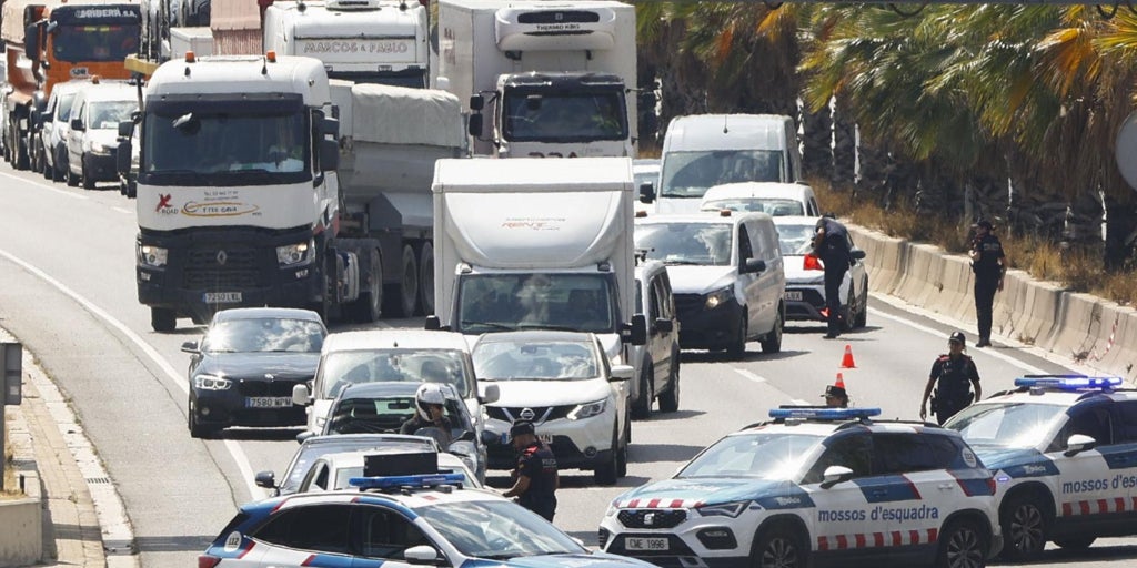
[[[351,479],[354,491],[248,503],[198,557],[198,566],[650,568],[589,552],[498,493],[464,487],[460,474],[438,474],[437,457],[374,456],[365,462],[365,477]]]

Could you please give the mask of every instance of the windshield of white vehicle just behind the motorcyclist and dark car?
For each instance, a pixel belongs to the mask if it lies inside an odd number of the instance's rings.
[[[468,399],[473,378],[465,353],[454,349],[360,349],[327,353],[316,374],[318,398],[334,399],[350,384],[388,381],[447,383]]]

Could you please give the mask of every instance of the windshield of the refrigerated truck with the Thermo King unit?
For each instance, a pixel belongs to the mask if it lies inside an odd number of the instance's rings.
[[[619,92],[534,94],[506,91],[503,131],[515,142],[623,140],[624,100]]]

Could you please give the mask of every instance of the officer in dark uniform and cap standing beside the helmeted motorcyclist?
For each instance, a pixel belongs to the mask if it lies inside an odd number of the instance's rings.
[[[517,469],[514,484],[503,493],[517,498],[517,503],[553,523],[557,510],[557,458],[553,450],[537,440],[533,423],[518,420],[509,428],[513,448],[517,450]]]

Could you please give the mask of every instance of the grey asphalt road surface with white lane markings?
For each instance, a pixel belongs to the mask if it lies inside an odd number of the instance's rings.
[[[134,287],[134,207],[116,185],[84,192],[0,166],[0,325],[35,353],[72,401],[123,496],[143,566],[193,566],[236,507],[263,496],[252,474],[283,470],[299,431],[246,428],[221,440],[190,438],[189,358],[180,345],[201,328],[183,319],[176,333],[150,331]],[[684,353],[680,410],[633,423],[629,475],[616,487],[595,486],[590,473],[562,473],[556,524],[595,544],[604,510],[622,491],[670,476],[720,436],[764,419],[771,407],[820,402],[838,371],[855,406],[915,419],[931,362],[946,352],[954,327],[887,299],[870,304],[868,328],[837,341],[821,337],[823,326],[807,325],[789,328],[778,354],[762,353],[757,343],[741,361]],[[380,325],[420,328],[422,321]],[[840,368],[846,345],[856,368]],[[1070,369],[1020,348],[970,352],[986,393],[1010,387],[1023,373]],[[504,486],[503,474],[491,471],[490,484]],[[1135,560],[1137,538],[1107,538],[1089,551],[1051,551],[1039,566]]]

